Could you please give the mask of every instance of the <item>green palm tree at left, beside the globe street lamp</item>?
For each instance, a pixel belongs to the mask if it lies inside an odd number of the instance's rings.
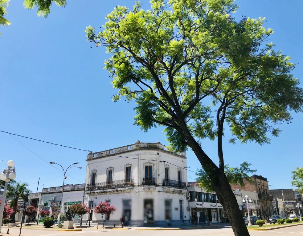
[[[14,210],[14,213],[11,216],[12,219],[15,219],[18,199],[21,198],[24,201],[28,201],[28,194],[31,191],[28,190],[27,187],[28,187],[27,183],[21,183],[21,182],[15,182],[7,187],[6,197],[13,198],[10,201],[10,207],[13,207]]]

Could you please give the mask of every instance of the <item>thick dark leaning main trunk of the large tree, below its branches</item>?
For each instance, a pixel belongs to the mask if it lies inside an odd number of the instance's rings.
[[[215,186],[215,192],[217,193],[219,202],[222,204],[223,209],[231,222],[231,227],[235,236],[249,236],[236,197],[231,190],[224,171],[217,167],[217,165],[207,156],[196,140],[188,133],[186,135],[186,140],[188,146],[192,148],[203,169],[210,177],[212,184]]]

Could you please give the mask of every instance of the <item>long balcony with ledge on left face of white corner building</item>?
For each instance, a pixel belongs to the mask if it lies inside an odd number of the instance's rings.
[[[117,192],[132,191],[134,187],[133,179],[120,179],[111,182],[99,182],[86,185],[87,195],[100,195]]]

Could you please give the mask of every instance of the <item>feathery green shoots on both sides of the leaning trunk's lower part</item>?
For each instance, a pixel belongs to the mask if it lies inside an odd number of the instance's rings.
[[[240,184],[241,187],[244,187],[243,180],[245,179],[249,183],[253,183],[252,179],[248,174],[252,174],[257,170],[251,170],[249,167],[252,164],[247,163],[246,161],[238,167],[229,167],[225,165],[225,175],[230,184]],[[211,180],[211,171],[204,171],[203,169],[198,170],[196,181],[199,182],[199,187],[202,187],[206,191],[215,191],[215,183]]]

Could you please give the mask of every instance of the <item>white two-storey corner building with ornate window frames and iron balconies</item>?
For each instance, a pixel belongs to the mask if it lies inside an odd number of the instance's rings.
[[[190,224],[184,152],[175,153],[159,141],[137,141],[91,152],[86,161],[86,204],[92,212],[101,201],[117,209],[104,216],[104,224],[117,226],[121,217],[126,226]],[[101,215],[93,212],[92,222],[101,223]]]

